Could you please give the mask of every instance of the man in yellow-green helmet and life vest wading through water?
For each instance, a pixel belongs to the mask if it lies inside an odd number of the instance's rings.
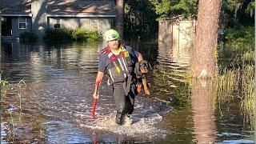
[[[134,65],[143,60],[142,54],[130,46],[121,45],[116,30],[106,30],[103,35],[106,48],[102,50],[98,62],[98,74],[93,97],[98,98],[98,86],[104,74],[108,76],[108,85],[113,89],[117,106],[115,122],[123,124],[124,117],[130,117],[134,111],[135,74]]]

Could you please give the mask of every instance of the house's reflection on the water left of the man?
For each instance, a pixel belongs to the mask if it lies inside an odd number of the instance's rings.
[[[2,46],[2,71],[6,78],[11,78],[9,79],[11,82],[22,78],[46,81],[51,72],[54,74],[50,76],[55,76],[67,70],[79,70],[84,74],[95,73],[98,51],[102,48],[102,44],[98,43],[59,46],[38,43],[33,46],[14,44],[11,46],[13,47]]]

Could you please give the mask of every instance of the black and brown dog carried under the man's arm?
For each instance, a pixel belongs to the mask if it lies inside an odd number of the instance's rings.
[[[148,73],[149,64],[146,60],[142,60],[141,62],[137,62],[135,64],[134,73],[137,78],[137,92],[141,93],[142,87],[144,88],[144,92],[147,97],[150,97],[150,90],[148,89],[148,83],[146,81],[146,74]]]

